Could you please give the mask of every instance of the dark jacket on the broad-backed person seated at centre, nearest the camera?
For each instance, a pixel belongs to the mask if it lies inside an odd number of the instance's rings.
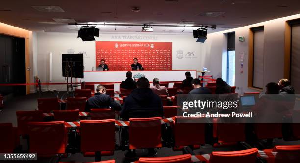
[[[121,117],[129,118],[162,117],[163,105],[160,97],[153,93],[150,88],[138,88],[125,98]]]

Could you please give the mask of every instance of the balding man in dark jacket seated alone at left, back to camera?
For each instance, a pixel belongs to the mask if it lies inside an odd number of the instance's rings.
[[[97,93],[94,97],[90,97],[86,102],[85,112],[90,112],[91,109],[107,109],[111,108],[120,111],[121,105],[115,102],[109,95],[106,95],[106,89],[103,85],[98,85]]]

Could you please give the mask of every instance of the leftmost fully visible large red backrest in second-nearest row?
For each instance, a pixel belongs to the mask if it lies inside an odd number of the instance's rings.
[[[65,153],[67,130],[64,121],[29,122],[29,152],[42,155]]]

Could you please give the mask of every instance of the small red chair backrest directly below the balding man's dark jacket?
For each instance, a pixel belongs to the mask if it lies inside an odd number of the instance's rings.
[[[112,109],[91,109],[92,120],[115,119],[115,111]]]

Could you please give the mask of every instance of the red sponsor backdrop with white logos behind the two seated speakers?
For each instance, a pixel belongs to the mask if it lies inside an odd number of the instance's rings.
[[[96,41],[96,67],[104,59],[109,70],[127,71],[133,58],[145,70],[172,70],[172,42]]]

